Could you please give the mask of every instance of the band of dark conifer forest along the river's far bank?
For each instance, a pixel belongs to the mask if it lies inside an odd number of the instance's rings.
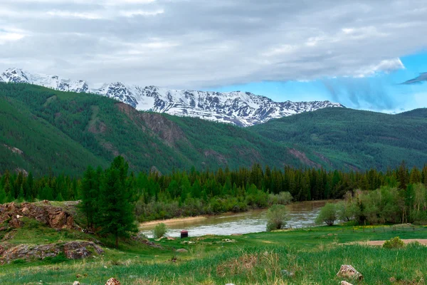
[[[238,170],[226,167],[197,171],[191,167],[188,171],[175,170],[166,175],[156,171],[126,172],[127,188],[133,193],[132,203],[139,222],[244,212],[291,201],[344,197],[349,200],[349,195],[353,197],[359,192],[374,195],[381,187],[396,189],[399,200],[408,206],[415,197],[411,193],[417,191],[418,185],[427,185],[427,166],[409,169],[405,162],[386,172],[374,169],[364,172],[293,167],[278,169],[259,164]],[[0,202],[82,199],[85,193],[100,192],[105,173],[102,167],[88,167],[80,177],[53,175],[52,172],[34,177],[31,172],[25,175],[23,172],[6,171],[0,177]],[[90,199],[96,200],[97,195]],[[416,207],[425,211],[425,199],[420,201]]]

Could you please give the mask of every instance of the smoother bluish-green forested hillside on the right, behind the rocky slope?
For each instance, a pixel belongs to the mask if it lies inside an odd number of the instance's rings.
[[[402,160],[422,167],[427,162],[427,119],[423,110],[411,113],[327,108],[250,129],[270,140],[310,148],[335,168],[386,170]]]

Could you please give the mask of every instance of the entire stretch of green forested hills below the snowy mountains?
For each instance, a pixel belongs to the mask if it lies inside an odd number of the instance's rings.
[[[386,115],[328,108],[251,128],[138,112],[99,95],[0,83],[0,172],[80,175],[122,155],[132,170],[325,167],[427,162],[426,109]]]

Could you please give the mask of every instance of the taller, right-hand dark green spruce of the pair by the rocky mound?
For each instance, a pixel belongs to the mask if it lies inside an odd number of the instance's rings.
[[[105,171],[100,185],[100,233],[112,234],[116,247],[120,237],[129,237],[130,232],[137,232],[133,189],[127,180],[128,169],[123,157],[116,157]]]

